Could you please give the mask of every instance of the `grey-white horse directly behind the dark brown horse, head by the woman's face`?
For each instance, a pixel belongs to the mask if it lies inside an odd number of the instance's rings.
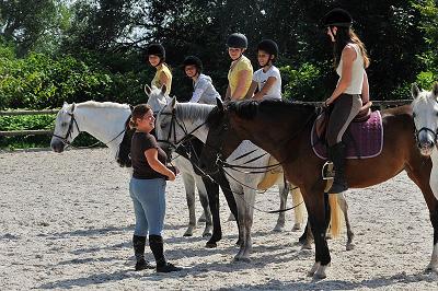
[[[193,103],[176,103],[176,98],[172,98],[170,104],[164,106],[157,116],[157,137],[159,140],[165,140],[168,136],[172,137],[171,142],[175,146],[186,137],[187,132],[196,136],[203,142],[206,142],[208,128],[206,125],[209,113],[215,108],[212,105],[193,104]],[[177,120],[183,126],[175,126],[173,123]],[[184,130],[185,128],[185,130]],[[170,131],[172,130],[171,135]],[[253,160],[254,156],[260,156],[265,151],[254,146],[250,141],[244,141],[242,144],[229,156],[228,161],[232,161],[237,156],[241,156],[243,153],[247,153],[254,150],[253,153],[239,159],[239,164],[246,166],[266,166],[268,165],[268,154],[263,155],[260,159]],[[237,163],[235,161],[233,162]],[[251,228],[253,223],[253,212],[255,194],[258,183],[263,179],[264,173],[243,173],[231,170],[229,178],[231,190],[234,194],[235,202],[238,205],[238,220],[240,222],[240,245],[239,253],[234,256],[235,260],[250,260],[250,254],[252,251],[252,238]],[[293,201],[293,203],[300,201]],[[303,207],[300,205],[299,207]]]

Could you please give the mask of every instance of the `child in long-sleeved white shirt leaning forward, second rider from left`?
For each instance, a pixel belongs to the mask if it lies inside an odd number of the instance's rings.
[[[189,102],[216,104],[216,98],[221,100],[212,85],[211,78],[203,72],[203,62],[195,56],[188,56],[183,62],[185,74],[193,80],[194,92]]]

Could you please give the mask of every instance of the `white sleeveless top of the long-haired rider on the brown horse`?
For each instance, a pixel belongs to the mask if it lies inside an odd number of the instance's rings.
[[[348,44],[348,46],[351,46],[356,50],[356,59],[353,61],[353,67],[351,67],[351,82],[349,83],[348,88],[344,91],[345,94],[361,94],[362,93],[362,84],[364,84],[364,57],[360,54],[359,46],[356,44]],[[342,67],[343,67],[343,60],[341,57],[339,65],[336,68],[336,72],[339,75],[339,80],[337,83],[339,83],[341,78],[342,78]]]

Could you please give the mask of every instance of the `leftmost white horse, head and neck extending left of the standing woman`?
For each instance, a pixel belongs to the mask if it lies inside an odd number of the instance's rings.
[[[94,102],[88,101],[79,104],[65,103],[58,112],[55,120],[55,130],[51,138],[50,147],[55,152],[62,152],[65,147],[71,143],[81,131],[85,131],[110,148],[114,160],[117,159],[120,142],[125,133],[125,124],[131,114],[130,107],[127,104],[118,104],[112,102]],[[185,166],[180,164],[180,170],[186,186],[186,191],[191,191],[193,181],[187,178]],[[132,174],[131,167],[128,167],[129,175]],[[193,186],[192,186],[193,187]],[[205,188],[200,190],[206,193]],[[194,189],[192,189],[194,193]],[[187,205],[194,203],[189,199],[192,194],[187,194]],[[206,197],[206,196],[205,196]],[[208,199],[200,199],[205,209],[206,228],[203,236],[211,235],[211,214],[208,208]],[[189,224],[186,236],[193,235],[193,230],[196,226],[195,213],[191,212]]]

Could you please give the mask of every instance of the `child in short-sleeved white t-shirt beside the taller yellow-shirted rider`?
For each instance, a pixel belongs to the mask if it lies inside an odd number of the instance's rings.
[[[261,101],[264,98],[281,98],[280,71],[273,62],[278,57],[278,46],[272,39],[264,39],[257,45],[257,60],[262,67],[254,72],[253,82],[246,97]],[[254,94],[255,90],[258,90]]]

